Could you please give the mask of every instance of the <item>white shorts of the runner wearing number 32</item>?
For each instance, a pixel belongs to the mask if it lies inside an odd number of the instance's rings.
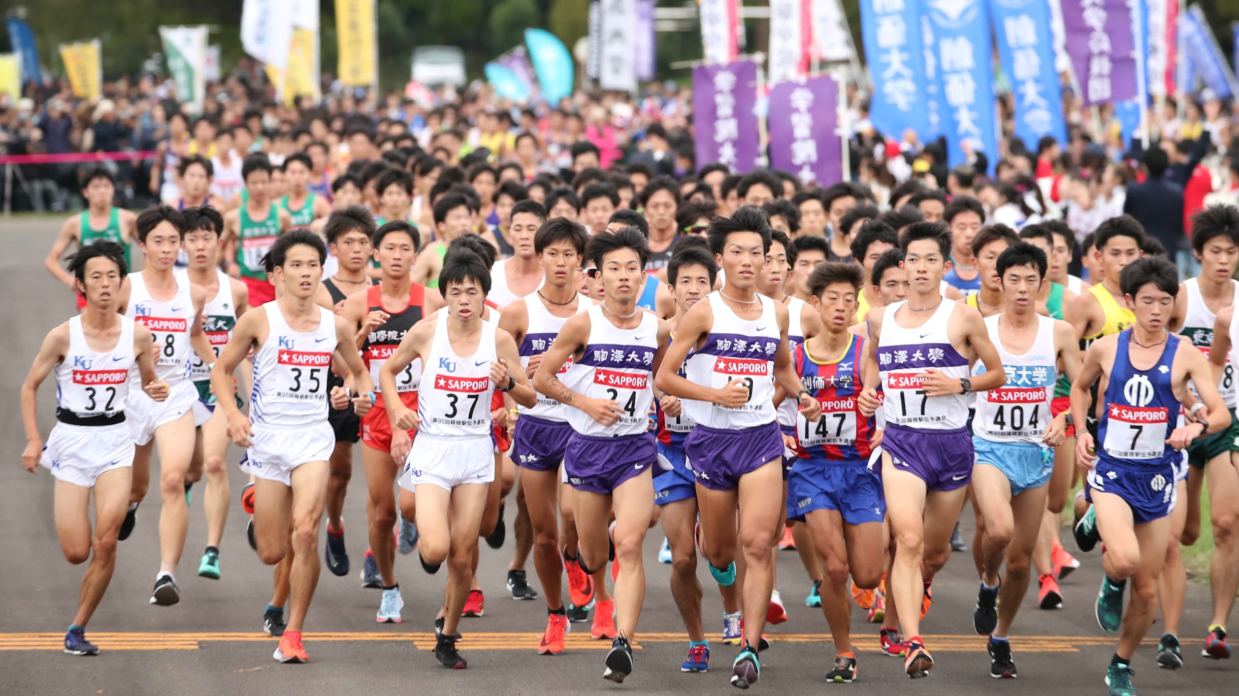
[[[58,422],[38,463],[66,483],[90,488],[99,474],[134,466],[134,438],[125,424],[88,426]]]

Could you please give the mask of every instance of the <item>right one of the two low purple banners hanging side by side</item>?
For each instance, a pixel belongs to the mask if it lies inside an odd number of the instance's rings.
[[[843,180],[843,145],[835,133],[839,87],[830,77],[771,88],[767,128],[771,168],[793,172],[805,185],[830,186]]]

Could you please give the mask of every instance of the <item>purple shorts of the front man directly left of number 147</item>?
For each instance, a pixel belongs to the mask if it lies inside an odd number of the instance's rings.
[[[698,483],[711,490],[735,490],[740,477],[768,462],[783,463],[783,437],[778,422],[743,430],[699,425],[684,440],[684,456]],[[787,468],[783,469],[784,478]]]

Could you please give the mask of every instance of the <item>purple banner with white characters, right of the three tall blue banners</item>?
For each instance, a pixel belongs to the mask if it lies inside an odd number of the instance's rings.
[[[1136,40],[1127,0],[1062,0],[1067,53],[1085,107],[1134,99]]]

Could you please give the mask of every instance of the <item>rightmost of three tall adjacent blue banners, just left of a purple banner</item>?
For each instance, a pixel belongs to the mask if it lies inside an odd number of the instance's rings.
[[[989,0],[1002,72],[1011,82],[1015,135],[1031,152],[1052,135],[1067,142],[1062,93],[1054,71],[1054,38],[1046,0]]]

